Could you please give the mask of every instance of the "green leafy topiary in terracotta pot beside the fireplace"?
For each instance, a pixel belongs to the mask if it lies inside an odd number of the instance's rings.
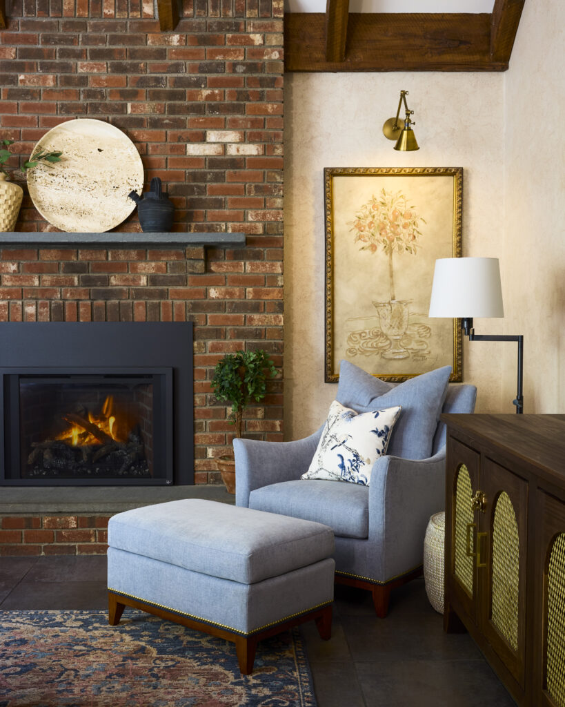
[[[243,436],[243,413],[251,402],[265,397],[267,378],[277,371],[266,351],[237,351],[226,354],[216,363],[212,390],[222,402],[230,402],[230,420],[235,425],[235,436]],[[235,462],[232,457],[216,460],[218,471],[229,493],[235,493]]]

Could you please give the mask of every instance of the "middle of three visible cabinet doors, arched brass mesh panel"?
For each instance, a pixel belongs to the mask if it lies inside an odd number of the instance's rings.
[[[524,686],[528,482],[484,459],[477,566],[480,627],[516,682]]]

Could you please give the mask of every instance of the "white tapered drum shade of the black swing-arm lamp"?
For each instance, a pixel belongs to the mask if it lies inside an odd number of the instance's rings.
[[[429,317],[504,317],[498,258],[436,260]]]

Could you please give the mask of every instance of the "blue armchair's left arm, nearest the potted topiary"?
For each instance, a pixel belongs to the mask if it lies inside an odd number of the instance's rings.
[[[261,486],[298,479],[308,470],[323,426],[295,442],[234,439],[235,505],[249,506],[249,493]]]

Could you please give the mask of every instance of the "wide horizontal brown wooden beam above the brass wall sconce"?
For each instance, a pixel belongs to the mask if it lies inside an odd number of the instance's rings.
[[[326,15],[288,13],[285,70],[504,71],[490,37],[488,13],[350,13],[345,59],[328,62]]]

